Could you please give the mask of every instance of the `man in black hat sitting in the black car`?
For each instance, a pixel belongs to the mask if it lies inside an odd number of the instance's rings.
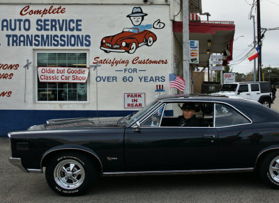
[[[199,120],[195,113],[195,104],[193,102],[184,103],[181,107],[183,115],[178,117],[179,127],[205,127],[205,123]]]

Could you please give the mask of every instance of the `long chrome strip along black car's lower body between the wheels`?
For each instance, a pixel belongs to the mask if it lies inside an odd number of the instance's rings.
[[[230,169],[210,169],[210,170],[156,170],[156,171],[134,171],[134,172],[104,172],[103,176],[133,176],[133,175],[156,175],[156,174],[203,174],[221,172],[252,172],[254,168],[230,168]]]

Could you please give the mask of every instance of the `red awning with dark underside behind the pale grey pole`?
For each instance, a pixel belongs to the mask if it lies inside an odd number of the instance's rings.
[[[173,23],[173,31],[176,38],[182,44],[182,28],[183,22]],[[234,42],[234,22],[205,21],[205,22],[189,22],[190,40],[199,40],[199,67],[208,67],[210,53],[223,54],[226,49],[229,50],[230,56],[224,60],[223,65],[227,65],[232,60],[232,48]],[[209,40],[211,46],[209,46]],[[228,53],[228,51],[227,51]]]

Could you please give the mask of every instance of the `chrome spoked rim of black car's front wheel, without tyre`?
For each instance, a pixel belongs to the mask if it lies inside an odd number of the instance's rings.
[[[72,159],[59,162],[54,168],[54,180],[61,188],[73,190],[84,181],[85,172],[82,164]]]

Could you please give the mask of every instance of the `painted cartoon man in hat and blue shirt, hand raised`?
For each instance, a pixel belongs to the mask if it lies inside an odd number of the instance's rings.
[[[142,12],[142,8],[140,7],[134,7],[132,10],[132,13],[127,15],[127,17],[130,18],[130,21],[134,25],[133,28],[139,29],[139,31],[144,31],[147,29],[163,29],[165,27],[165,24],[163,22],[160,22],[160,19],[156,20],[156,22],[152,24],[145,24],[142,25],[142,21],[144,20],[144,16],[148,14]]]

